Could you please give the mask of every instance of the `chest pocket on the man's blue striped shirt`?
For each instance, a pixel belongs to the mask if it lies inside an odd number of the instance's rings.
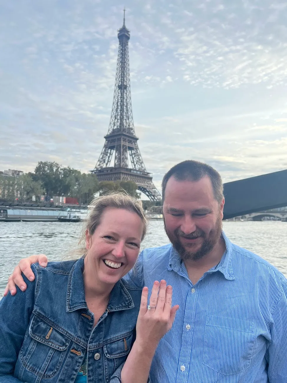
[[[203,331],[203,364],[224,375],[249,367],[256,336],[248,320],[210,316]]]

